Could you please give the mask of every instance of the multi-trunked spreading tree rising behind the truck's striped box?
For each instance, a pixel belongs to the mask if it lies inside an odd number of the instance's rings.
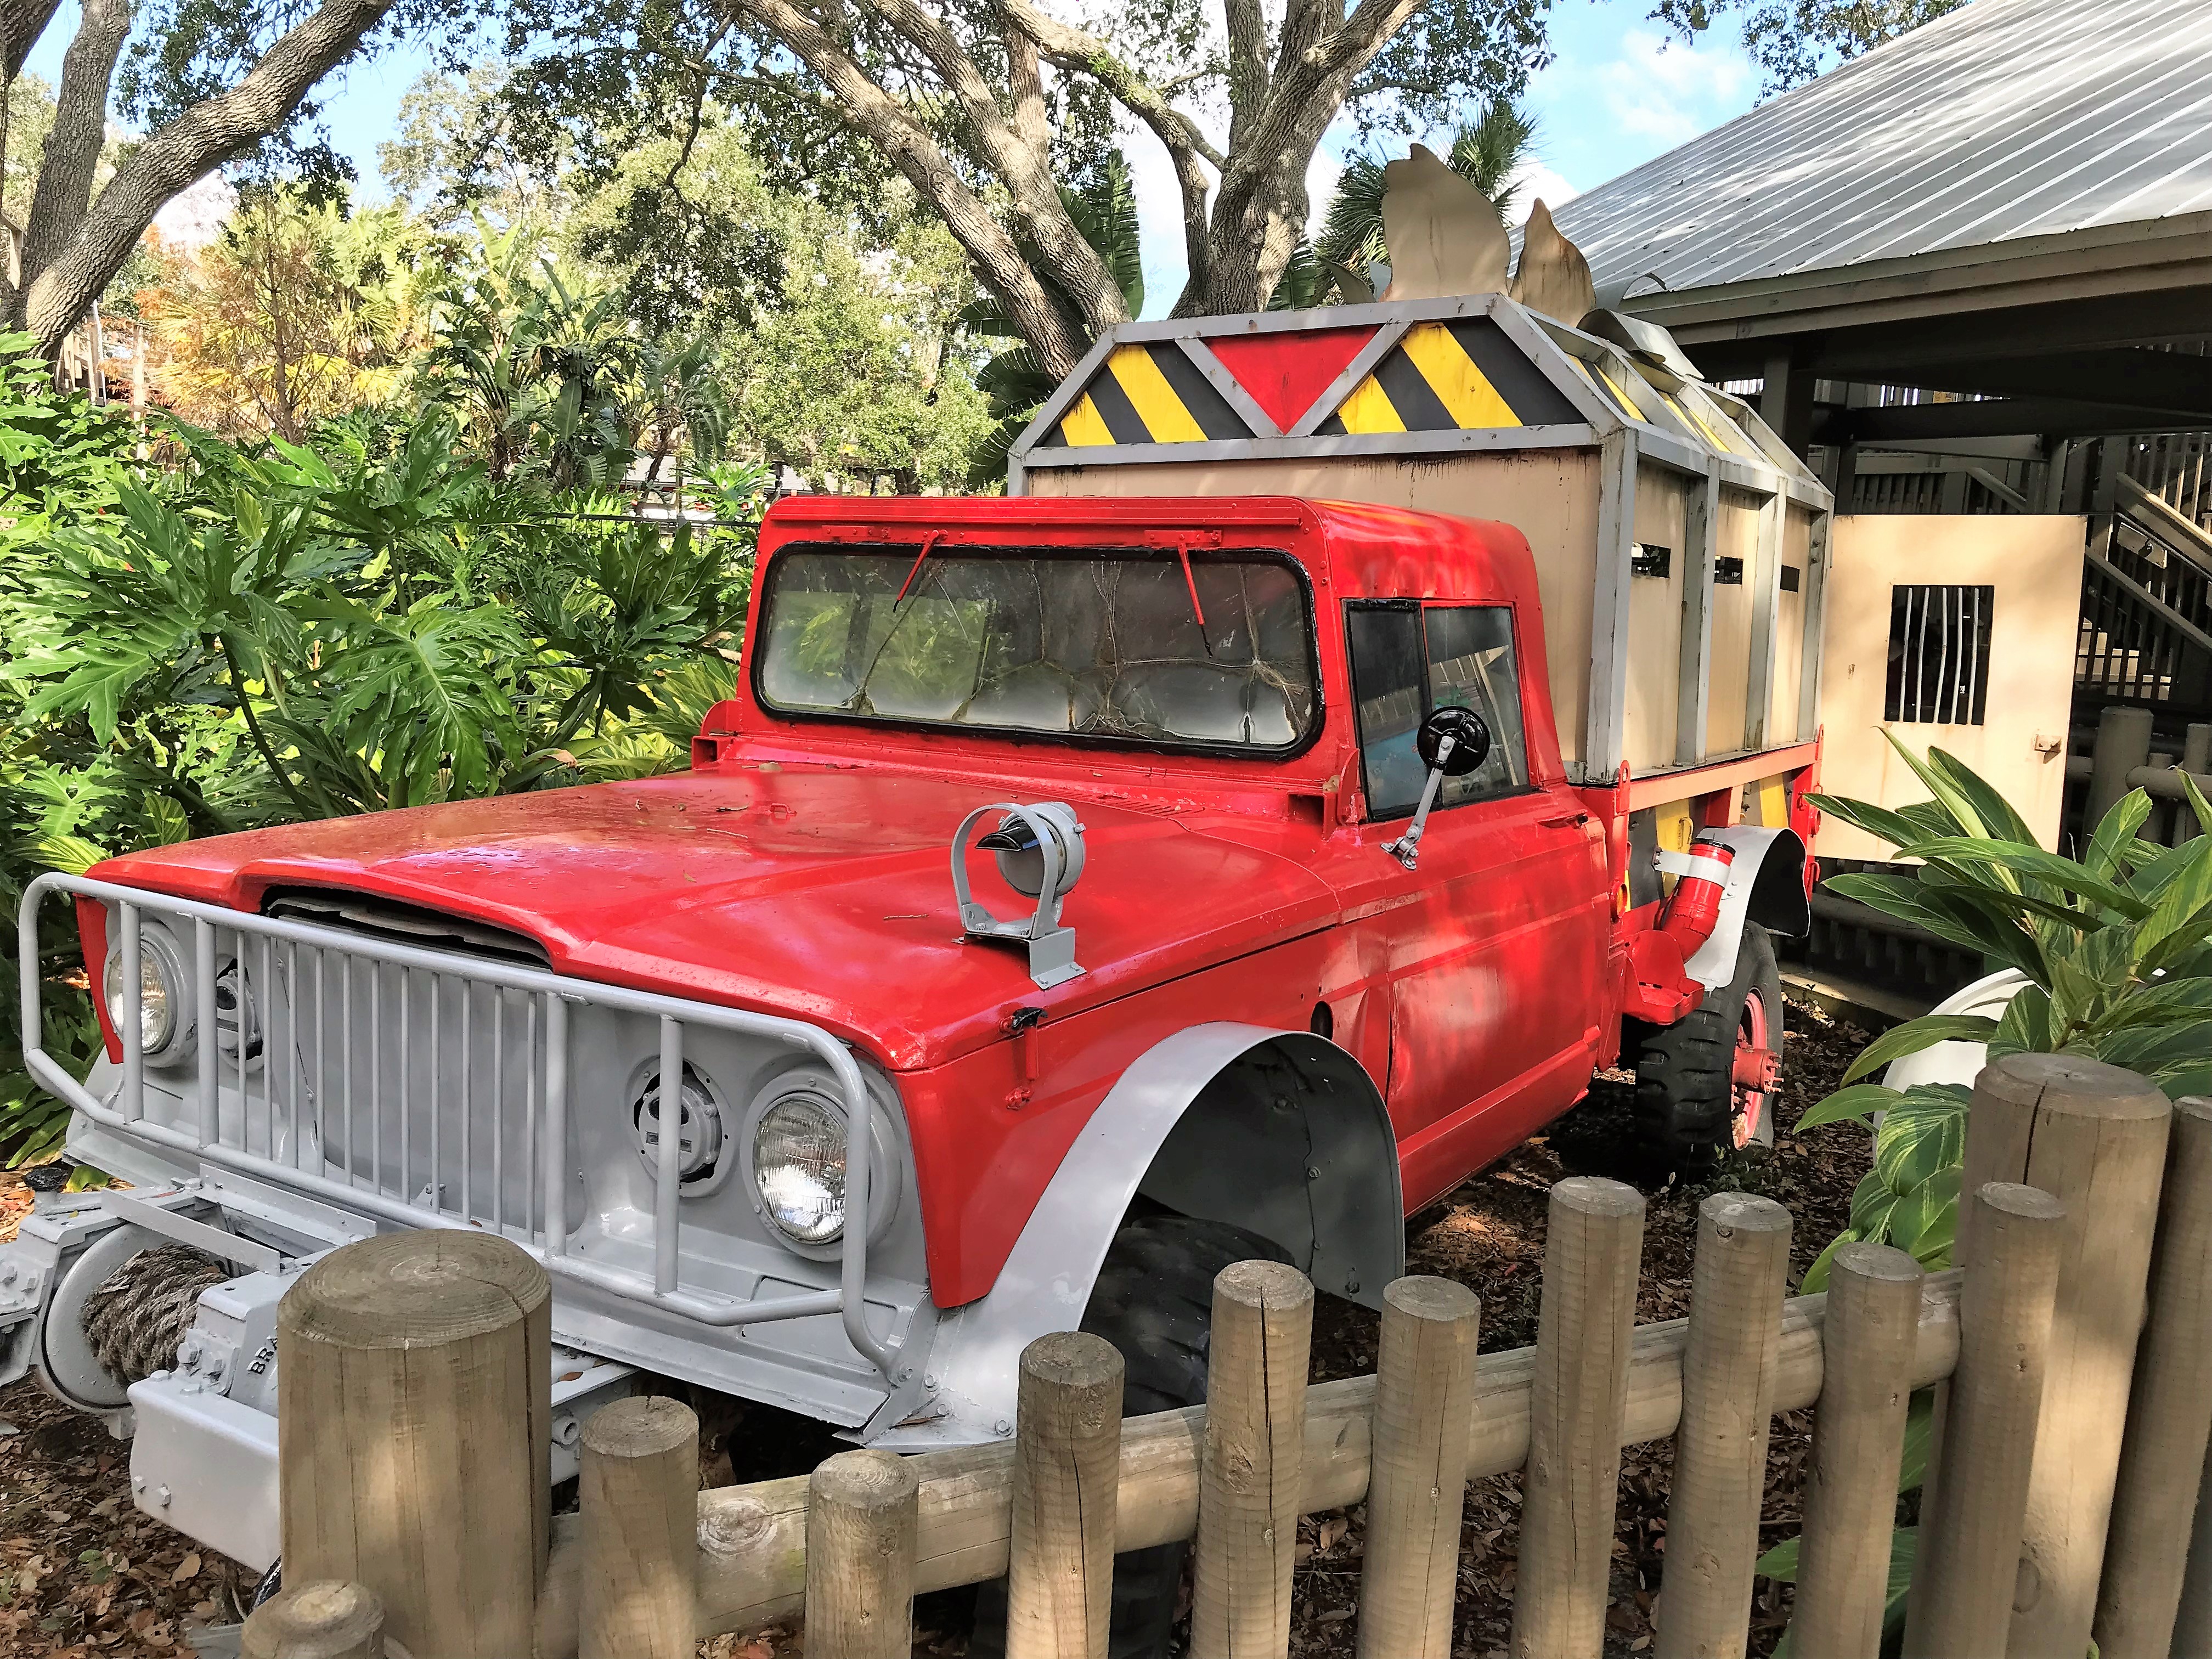
[[[1117,122],[1175,168],[1190,270],[1175,312],[1259,310],[1305,230],[1305,168],[1338,113],[1420,131],[1513,95],[1546,58],[1544,13],[1546,0],[1281,13],[1225,0],[1217,18],[1146,0],[1077,24],[1031,0],[509,0],[509,42],[533,53],[509,100],[518,131],[560,135],[599,173],[646,139],[690,142],[712,108],[787,179],[865,197],[896,173],[1057,376],[1126,319],[1057,188]]]

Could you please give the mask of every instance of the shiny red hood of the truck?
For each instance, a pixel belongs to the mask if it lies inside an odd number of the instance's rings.
[[[721,768],[215,836],[91,874],[261,909],[345,889],[544,945],[557,973],[812,1020],[894,1071],[1325,927],[1334,894],[1292,858],[1168,812],[1071,799],[1088,867],[1062,920],[1077,980],[1040,991],[1015,945],[962,940],[949,847],[989,783],[827,765]],[[1026,916],[987,856],[975,896]]]

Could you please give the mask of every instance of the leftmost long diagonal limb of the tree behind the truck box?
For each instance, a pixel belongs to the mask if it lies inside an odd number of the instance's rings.
[[[945,228],[975,265],[975,274],[1000,296],[1006,316],[1035,347],[1044,367],[1055,376],[1068,374],[1088,341],[1077,341],[1068,332],[1066,319],[1022,259],[1013,237],[991,217],[929,131],[792,0],[739,0],[739,4],[821,77],[845,117],[891,157],[891,166],[938,210]]]

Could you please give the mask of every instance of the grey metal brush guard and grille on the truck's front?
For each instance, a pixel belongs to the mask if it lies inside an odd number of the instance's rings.
[[[104,902],[122,958],[122,1066],[106,1102],[44,1053],[40,975],[22,975],[24,1064],[95,1124],[398,1225],[489,1225],[555,1279],[701,1325],[838,1314],[852,1345],[889,1376],[896,1349],[867,1329],[863,1298],[876,1106],[845,1044],[827,1031],[60,872],[24,889],[18,916],[24,962],[38,960],[38,909],[49,894]],[[175,1124],[146,1115],[146,1055],[133,1042],[144,1020],[146,911],[177,920],[177,947],[190,949],[197,1113],[188,1126],[181,1115]],[[219,969],[226,960],[228,971]],[[104,995],[104,964],[88,967],[95,995]],[[650,1276],[568,1250],[573,1004],[659,1022]],[[170,1018],[181,1022],[186,1013],[173,1009]],[[739,1301],[679,1283],[686,1026],[805,1048],[834,1075],[845,1097],[845,1197],[854,1219],[838,1290]],[[449,1068],[456,1053],[458,1066]]]

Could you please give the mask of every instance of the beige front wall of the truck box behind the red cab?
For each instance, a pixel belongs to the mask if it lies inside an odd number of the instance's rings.
[[[1526,535],[1535,553],[1559,750],[1568,765],[1582,757],[1584,699],[1590,690],[1590,577],[1597,546],[1595,449],[1502,449],[1440,460],[1383,456],[1037,467],[1029,473],[1029,491],[1033,495],[1307,495],[1502,520]],[[1644,522],[1639,491],[1639,529]],[[1681,522],[1679,509],[1674,522]],[[1650,540],[1663,538],[1652,531]],[[1668,726],[1672,732],[1672,717]]]

